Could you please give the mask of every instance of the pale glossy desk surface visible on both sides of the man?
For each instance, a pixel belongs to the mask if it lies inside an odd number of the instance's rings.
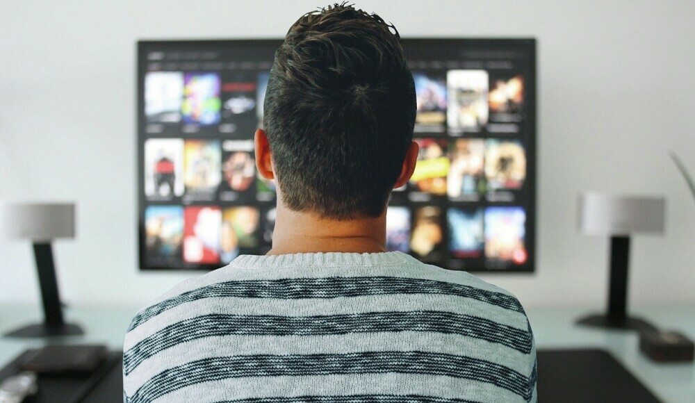
[[[126,328],[135,309],[68,309],[66,319],[85,329],[84,336],[50,340],[52,343],[104,343],[122,348]],[[587,309],[527,309],[539,349],[598,348],[610,352],[632,375],[664,402],[695,403],[695,365],[693,363],[654,363],[639,352],[634,331],[603,330],[577,326],[574,321],[591,313]],[[632,313],[662,330],[677,330],[695,339],[695,304],[632,309]],[[0,306],[0,334],[29,322],[42,320],[38,306]],[[25,349],[40,347],[45,340],[0,338],[0,365],[5,365]],[[539,379],[541,382],[542,379]]]

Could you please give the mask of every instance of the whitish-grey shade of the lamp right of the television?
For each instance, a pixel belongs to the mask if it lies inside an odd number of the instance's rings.
[[[587,235],[663,233],[665,206],[663,197],[587,192],[579,197],[579,229]]]

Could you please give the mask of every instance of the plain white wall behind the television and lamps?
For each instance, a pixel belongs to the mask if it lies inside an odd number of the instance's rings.
[[[357,0],[356,0],[357,1]],[[139,272],[136,40],[281,38],[316,1],[3,1],[0,199],[75,200],[54,244],[63,299],[140,306],[195,272]],[[404,37],[538,40],[538,262],[486,275],[527,306],[605,303],[607,239],[575,229],[582,190],[664,195],[667,233],[633,238],[630,300],[695,301],[695,3],[357,1]],[[28,242],[0,245],[0,303],[35,303]]]

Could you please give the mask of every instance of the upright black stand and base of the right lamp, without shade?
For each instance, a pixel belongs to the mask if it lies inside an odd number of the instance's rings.
[[[608,313],[589,315],[577,321],[594,327],[612,329],[634,329],[638,331],[656,331],[650,323],[640,318],[626,315],[628,301],[628,261],[630,260],[630,238],[613,236],[610,241],[610,293],[608,295]]]

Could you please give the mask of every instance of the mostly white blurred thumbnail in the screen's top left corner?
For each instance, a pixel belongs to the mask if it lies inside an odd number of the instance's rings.
[[[149,72],[145,74],[145,117],[147,122],[181,121],[183,73]]]

